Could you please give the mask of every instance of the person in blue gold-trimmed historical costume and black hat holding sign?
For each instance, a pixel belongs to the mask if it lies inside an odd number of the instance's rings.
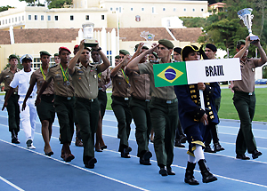
[[[200,60],[197,46],[185,46],[182,49],[182,60]],[[198,185],[193,173],[198,163],[204,183],[217,180],[206,167],[203,147],[203,132],[208,123],[218,123],[218,116],[214,107],[212,84],[185,84],[175,85],[174,90],[178,98],[179,118],[182,128],[187,135],[189,150],[188,163],[184,181],[190,185]],[[200,107],[199,90],[203,91],[206,110]]]

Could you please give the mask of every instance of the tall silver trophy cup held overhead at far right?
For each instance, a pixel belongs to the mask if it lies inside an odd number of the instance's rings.
[[[250,40],[256,41],[256,40],[259,40],[259,37],[252,34],[252,30],[251,30],[252,21],[251,20],[254,18],[254,15],[251,14],[252,11],[253,9],[251,8],[242,9],[238,12],[238,15],[239,15],[240,20],[243,20],[244,25],[247,27]]]

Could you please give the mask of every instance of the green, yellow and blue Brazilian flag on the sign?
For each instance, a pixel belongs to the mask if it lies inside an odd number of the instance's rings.
[[[188,84],[185,61],[154,64],[156,87]]]

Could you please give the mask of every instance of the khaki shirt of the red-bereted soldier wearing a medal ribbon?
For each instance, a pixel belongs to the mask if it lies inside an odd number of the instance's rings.
[[[67,74],[69,75],[69,70]],[[55,95],[63,97],[74,96],[74,86],[72,84],[72,77],[69,75],[69,83],[64,82],[61,72],[61,64],[49,68],[45,82],[50,83],[53,80],[53,91]]]

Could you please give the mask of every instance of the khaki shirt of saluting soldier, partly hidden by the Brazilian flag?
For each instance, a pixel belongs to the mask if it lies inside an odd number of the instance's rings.
[[[159,64],[162,61],[159,60]],[[174,93],[174,86],[166,86],[166,87],[155,87],[154,80],[154,72],[153,72],[153,63],[145,62],[142,64],[138,64],[138,68],[140,74],[149,74],[150,75],[150,95],[151,97],[156,97],[159,99],[172,100],[176,99],[176,95]]]

